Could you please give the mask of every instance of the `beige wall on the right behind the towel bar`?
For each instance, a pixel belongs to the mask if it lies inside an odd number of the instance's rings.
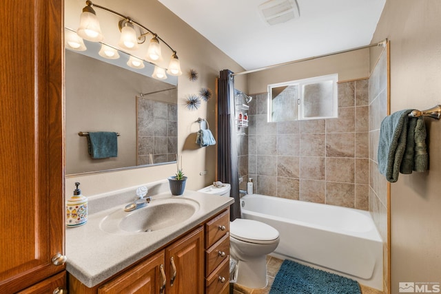
[[[441,2],[388,0],[373,41],[391,42],[391,112],[441,103]],[[441,122],[426,119],[429,171],[391,184],[391,293],[441,282]]]

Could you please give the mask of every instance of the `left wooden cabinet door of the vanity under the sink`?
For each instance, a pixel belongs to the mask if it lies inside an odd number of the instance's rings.
[[[156,294],[163,293],[164,251],[157,253],[145,262],[119,275],[99,287],[99,294]],[[162,268],[162,269],[161,269]],[[165,273],[164,273],[165,275]]]

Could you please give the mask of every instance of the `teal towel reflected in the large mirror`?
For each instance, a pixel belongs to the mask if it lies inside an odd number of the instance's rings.
[[[115,132],[89,132],[89,154],[93,159],[118,156],[118,135]]]

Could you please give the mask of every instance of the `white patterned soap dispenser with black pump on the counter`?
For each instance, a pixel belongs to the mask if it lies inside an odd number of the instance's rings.
[[[81,195],[79,182],[75,182],[74,196],[66,201],[66,226],[79,227],[88,221],[88,198]]]

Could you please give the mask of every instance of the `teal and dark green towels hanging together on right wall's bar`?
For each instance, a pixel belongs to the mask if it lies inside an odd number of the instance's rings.
[[[378,168],[389,182],[396,182],[399,172],[427,170],[426,127],[422,117],[409,118],[412,110],[391,114],[381,123]]]

